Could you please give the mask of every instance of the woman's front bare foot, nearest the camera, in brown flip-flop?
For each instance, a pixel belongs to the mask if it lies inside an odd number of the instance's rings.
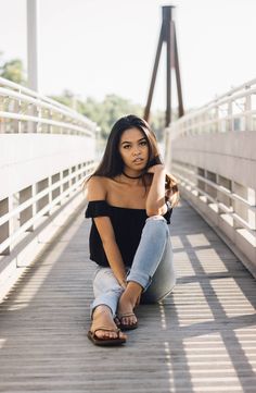
[[[117,326],[115,324],[112,316],[112,311],[107,306],[98,306],[92,316],[92,326],[91,331],[94,331],[98,328],[112,329],[113,331],[107,330],[97,330],[95,335],[98,339],[127,339],[127,335],[123,332],[117,333]]]

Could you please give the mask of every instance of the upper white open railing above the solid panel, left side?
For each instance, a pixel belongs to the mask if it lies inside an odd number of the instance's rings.
[[[0,133],[92,136],[95,123],[46,96],[0,77]]]

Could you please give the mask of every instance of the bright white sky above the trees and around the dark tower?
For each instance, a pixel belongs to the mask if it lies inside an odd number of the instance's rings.
[[[201,107],[256,77],[256,0],[38,0],[39,86],[102,100],[146,102],[162,5],[175,21],[184,107]],[[3,60],[27,63],[26,0],[0,0]],[[154,109],[165,109],[165,47]],[[174,91],[174,101],[175,91]]]

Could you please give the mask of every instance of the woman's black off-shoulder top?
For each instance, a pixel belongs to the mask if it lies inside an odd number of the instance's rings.
[[[167,208],[164,218],[169,224],[172,212],[169,202],[167,202]],[[89,237],[90,259],[100,266],[108,267],[102,241],[93,220],[95,217],[110,217],[124,263],[130,267],[148,219],[145,209],[115,207],[108,205],[106,200],[93,200],[88,204],[86,218],[92,218]]]

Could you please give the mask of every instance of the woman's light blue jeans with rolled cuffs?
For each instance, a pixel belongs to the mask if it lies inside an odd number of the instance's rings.
[[[127,282],[135,281],[143,287],[141,303],[156,303],[174,288],[176,275],[169,229],[162,216],[146,219],[132,266],[127,271]],[[118,300],[124,292],[111,268],[98,267],[93,279],[93,309],[100,305],[111,308],[116,316]]]

